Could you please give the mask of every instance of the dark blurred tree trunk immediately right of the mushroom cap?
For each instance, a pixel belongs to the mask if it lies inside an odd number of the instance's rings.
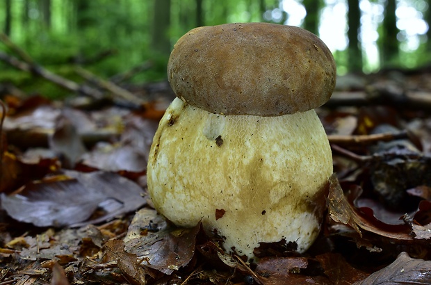
[[[362,70],[362,53],[359,42],[359,29],[361,27],[361,10],[359,9],[359,0],[348,0],[348,69],[352,72]]]

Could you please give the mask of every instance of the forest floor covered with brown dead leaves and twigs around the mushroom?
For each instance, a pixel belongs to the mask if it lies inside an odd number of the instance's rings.
[[[335,173],[320,235],[255,263],[156,213],[146,161],[174,96],[165,82],[127,91],[0,95],[0,285],[431,283],[431,70],[338,79],[317,110]]]

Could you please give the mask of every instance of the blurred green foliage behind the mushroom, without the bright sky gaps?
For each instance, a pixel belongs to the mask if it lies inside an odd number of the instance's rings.
[[[385,7],[396,3],[396,0],[368,1],[382,3]],[[419,2],[430,2],[411,1],[416,6],[420,6]],[[145,83],[165,79],[170,49],[190,29],[226,22],[268,21],[263,14],[279,8],[280,3],[281,0],[3,0],[0,1],[0,26],[38,63],[60,75],[81,80],[73,68],[79,64],[109,79],[150,61],[150,69],[131,79],[131,83]],[[355,0],[346,0],[346,3],[356,8],[359,6],[359,1]],[[302,26],[317,33],[319,10],[327,5],[327,1],[302,0],[302,4],[308,12]],[[423,5],[421,8],[425,19],[429,17],[428,8],[423,8]],[[391,17],[387,15],[387,19]],[[284,13],[278,22],[282,23],[286,18]],[[398,40],[393,40],[393,36],[392,41],[388,38],[391,33],[397,35],[399,32],[393,23],[389,22],[387,26],[382,24],[378,32],[381,52],[390,56],[388,65],[405,67],[405,63],[409,63],[409,67],[417,67],[428,63],[430,48],[425,40],[414,53],[402,53],[398,50]],[[357,33],[352,36],[355,35]],[[387,49],[393,41],[395,47]],[[0,50],[10,53],[1,43]],[[92,60],[102,53],[109,55]],[[357,71],[354,69],[361,69],[361,66],[375,71],[364,66],[361,58],[352,54],[351,47],[345,51],[334,51],[340,71]],[[355,65],[352,65],[352,60],[357,60]],[[38,90],[48,95],[58,92],[55,86],[30,74],[3,63],[0,63],[0,68],[0,82],[13,83],[26,92]]]

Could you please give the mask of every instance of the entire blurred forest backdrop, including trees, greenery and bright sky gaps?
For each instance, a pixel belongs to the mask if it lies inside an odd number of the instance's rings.
[[[173,44],[196,26],[301,26],[330,47],[339,74],[431,62],[431,0],[3,0],[3,35],[48,70],[79,81],[138,69],[131,83],[165,80]],[[0,57],[13,56],[0,43]],[[58,87],[0,62],[0,83],[58,97]]]

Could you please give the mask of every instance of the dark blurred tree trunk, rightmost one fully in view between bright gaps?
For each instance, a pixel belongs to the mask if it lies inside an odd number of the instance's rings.
[[[400,30],[396,26],[396,0],[387,0],[384,19],[380,30],[380,63],[382,66],[393,65],[398,57],[398,39]]]

